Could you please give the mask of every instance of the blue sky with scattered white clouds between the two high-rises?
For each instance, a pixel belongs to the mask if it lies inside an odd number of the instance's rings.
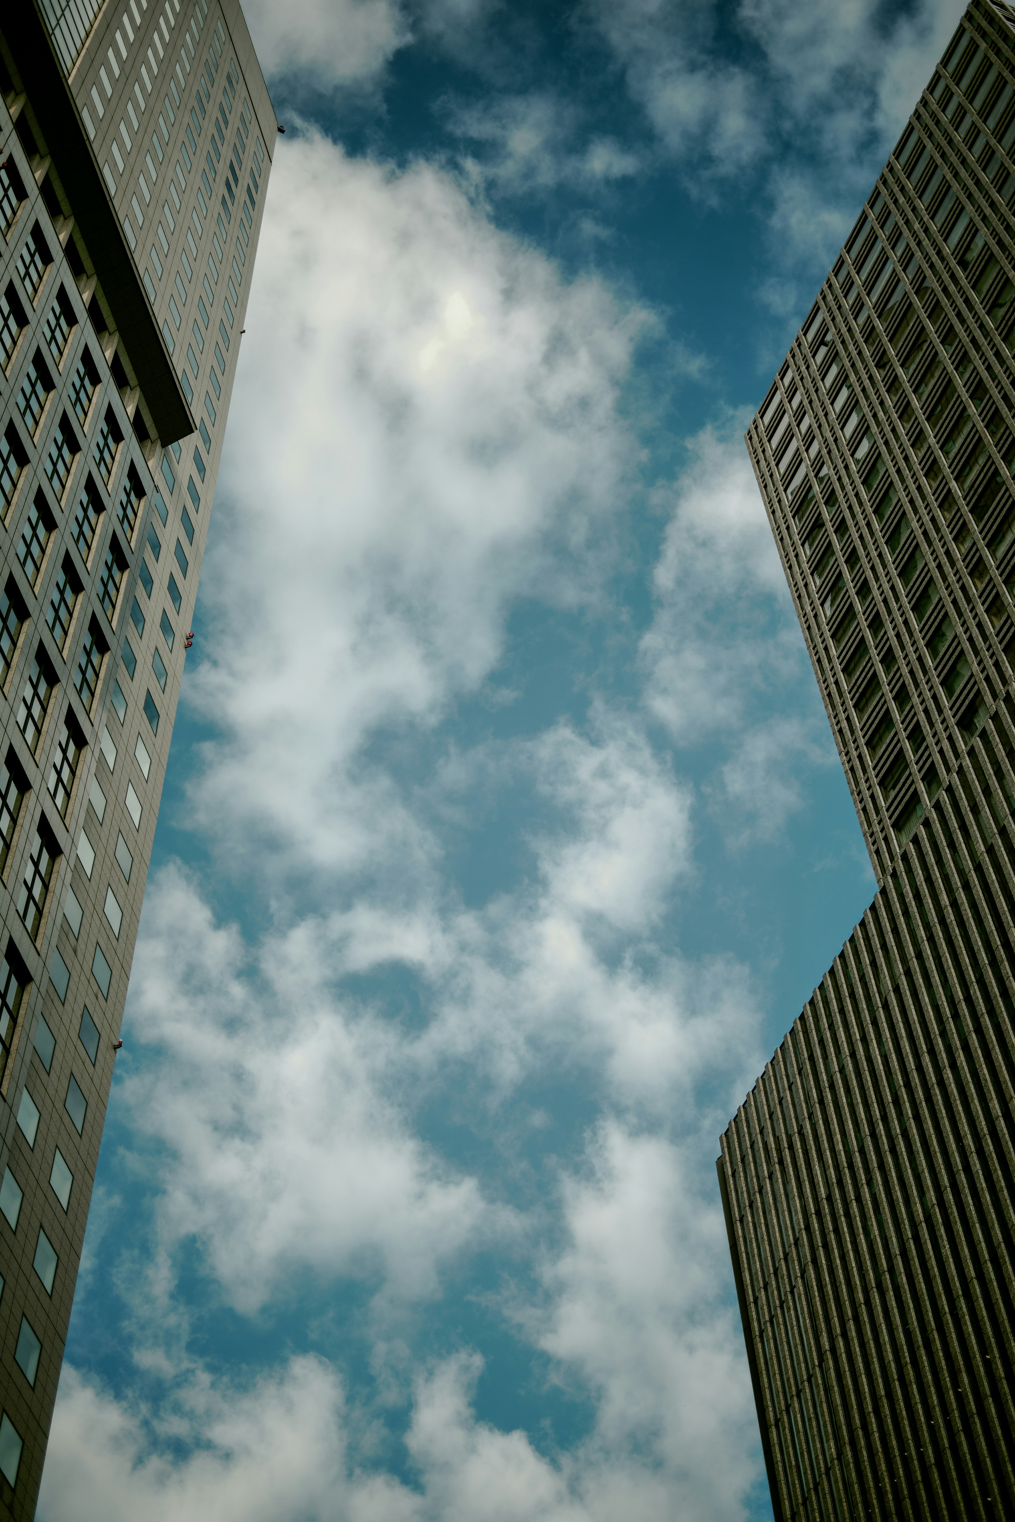
[[[743,444],[954,0],[250,0],[40,1522],[767,1519],[718,1137],[873,893]]]

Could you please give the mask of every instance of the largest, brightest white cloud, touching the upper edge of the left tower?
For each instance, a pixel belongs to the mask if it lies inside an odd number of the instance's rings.
[[[412,877],[426,843],[356,753],[475,691],[516,595],[595,586],[642,315],[426,166],[286,143],[269,205],[186,689],[224,735],[195,823],[262,871],[271,843],[332,869],[387,837]]]

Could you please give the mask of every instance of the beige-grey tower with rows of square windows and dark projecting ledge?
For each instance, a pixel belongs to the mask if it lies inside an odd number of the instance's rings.
[[[8,0],[0,94],[0,1517],[30,1519],[277,122],[237,0]]]

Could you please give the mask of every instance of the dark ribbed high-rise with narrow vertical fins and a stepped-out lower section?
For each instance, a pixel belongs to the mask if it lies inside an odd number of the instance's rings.
[[[721,1138],[779,1519],[1015,1516],[1015,11],[747,432],[877,875]]]

